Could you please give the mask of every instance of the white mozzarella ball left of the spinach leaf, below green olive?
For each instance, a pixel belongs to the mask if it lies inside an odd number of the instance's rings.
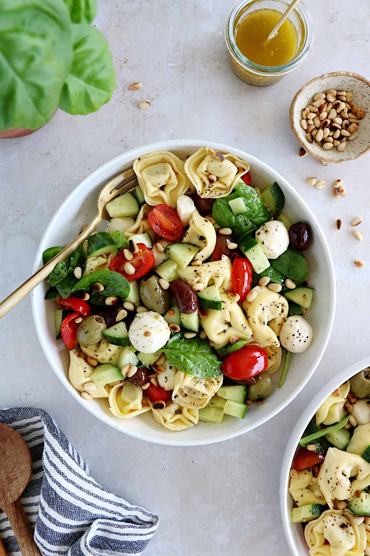
[[[155,311],[136,314],[129,328],[131,344],[143,353],[155,353],[168,342],[170,335],[167,322]]]

